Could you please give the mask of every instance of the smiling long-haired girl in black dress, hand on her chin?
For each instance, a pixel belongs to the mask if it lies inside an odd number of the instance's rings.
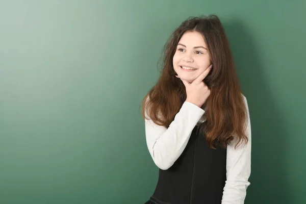
[[[142,114],[147,147],[160,169],[146,203],[244,203],[249,112],[216,15],[187,19],[170,36]]]

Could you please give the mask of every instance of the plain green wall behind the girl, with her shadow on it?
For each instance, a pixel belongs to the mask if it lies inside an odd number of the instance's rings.
[[[306,3],[0,0],[0,203],[143,203],[140,101],[182,20],[220,16],[252,124],[245,203],[306,203]]]

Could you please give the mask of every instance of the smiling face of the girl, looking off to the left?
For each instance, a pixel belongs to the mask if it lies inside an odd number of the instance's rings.
[[[173,56],[173,67],[182,80],[193,82],[211,65],[209,52],[199,32],[186,32],[177,44]]]

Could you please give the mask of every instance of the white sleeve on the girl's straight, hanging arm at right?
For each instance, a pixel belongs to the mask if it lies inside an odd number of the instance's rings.
[[[247,100],[244,103],[247,110],[246,135],[248,142],[235,149],[237,140],[227,145],[226,182],[223,189],[222,204],[243,204],[251,173],[251,125]]]

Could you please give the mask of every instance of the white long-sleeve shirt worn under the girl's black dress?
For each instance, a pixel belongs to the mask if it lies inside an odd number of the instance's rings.
[[[243,204],[251,172],[251,125],[247,100],[246,135],[248,143],[235,149],[233,140],[226,149],[226,182],[223,188],[222,204]],[[148,118],[148,115],[146,114]],[[184,151],[194,126],[204,122],[205,111],[198,106],[184,102],[168,129],[145,119],[146,143],[155,164],[163,170],[170,168]]]

